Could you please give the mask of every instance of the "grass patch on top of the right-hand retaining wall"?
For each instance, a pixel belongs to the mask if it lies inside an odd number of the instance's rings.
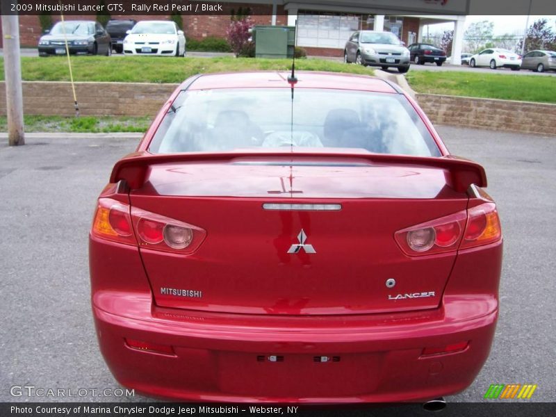
[[[409,70],[406,78],[416,92],[556,103],[553,76]]]

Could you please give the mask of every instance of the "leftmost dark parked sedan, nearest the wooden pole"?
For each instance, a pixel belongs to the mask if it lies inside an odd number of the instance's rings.
[[[65,41],[70,54],[112,54],[110,35],[99,22],[93,20],[66,20],[56,23],[40,37],[39,56],[64,55]]]

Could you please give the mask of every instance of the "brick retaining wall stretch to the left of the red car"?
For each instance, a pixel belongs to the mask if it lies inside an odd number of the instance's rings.
[[[76,83],[82,115],[152,116],[177,88],[177,84]],[[0,96],[6,85],[0,83]],[[23,106],[27,115],[74,115],[70,83],[23,83]],[[6,99],[0,100],[0,114],[6,115]]]

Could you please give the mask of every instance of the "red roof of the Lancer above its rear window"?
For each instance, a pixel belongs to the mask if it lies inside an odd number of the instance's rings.
[[[188,90],[213,90],[216,88],[289,88],[290,72],[230,72],[203,74],[188,87]],[[297,88],[333,88],[398,93],[393,85],[372,76],[338,74],[332,72],[295,72]],[[186,88],[186,83],[183,83]]]

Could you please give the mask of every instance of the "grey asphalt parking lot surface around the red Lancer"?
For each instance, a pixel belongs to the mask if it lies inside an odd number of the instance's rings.
[[[490,384],[537,384],[556,399],[556,138],[449,126],[450,151],[486,167],[505,236],[501,311],[491,355],[449,402],[480,402]],[[99,353],[89,300],[87,234],[95,198],[138,138],[0,139],[0,402],[11,386],[115,389]],[[97,394],[98,395],[98,394]],[[89,395],[59,400],[145,401]]]

